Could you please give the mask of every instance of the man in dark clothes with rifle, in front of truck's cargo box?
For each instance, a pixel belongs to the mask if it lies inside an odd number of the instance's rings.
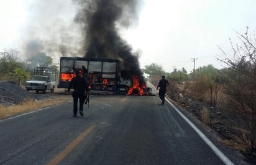
[[[72,93],[73,97],[73,117],[77,116],[78,110],[78,99],[79,99],[79,112],[83,116],[83,104],[85,101],[85,91],[88,90],[88,85],[85,78],[80,76],[80,71],[75,71],[76,76],[71,79],[70,86],[68,87],[68,92],[70,92],[71,87],[74,91]]]

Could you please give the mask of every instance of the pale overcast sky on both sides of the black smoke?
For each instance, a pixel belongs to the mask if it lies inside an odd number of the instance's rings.
[[[50,41],[63,37],[65,30],[77,32],[70,23],[75,12],[69,0],[0,0],[0,52],[17,48],[22,55],[28,34]],[[232,55],[229,38],[238,42],[235,31],[244,33],[247,26],[253,35],[255,0],[145,0],[139,20],[121,33],[135,51],[142,52],[141,68],[157,63],[167,72],[184,67],[190,73],[191,58],[198,58],[196,68],[222,68],[216,60],[222,55],[217,46]]]

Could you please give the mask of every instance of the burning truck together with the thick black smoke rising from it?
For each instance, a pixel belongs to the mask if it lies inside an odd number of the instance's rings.
[[[78,50],[83,58],[60,58],[60,83],[68,87],[76,69],[91,90],[144,95],[145,79],[140,69],[140,51],[134,51],[119,32],[137,19],[140,1],[76,1],[75,23],[81,26]],[[132,11],[132,12],[131,12]],[[70,44],[70,43],[68,43]],[[62,55],[66,48],[61,47]]]

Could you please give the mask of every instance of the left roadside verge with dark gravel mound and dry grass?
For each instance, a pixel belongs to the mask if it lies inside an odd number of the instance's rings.
[[[36,94],[35,91],[25,91],[21,86],[0,82],[0,120],[70,100],[72,97],[65,94],[65,89]]]

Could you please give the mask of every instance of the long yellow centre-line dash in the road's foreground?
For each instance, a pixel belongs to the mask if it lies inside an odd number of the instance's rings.
[[[64,159],[65,156],[70,153],[70,151],[75,148],[75,146],[77,146],[78,143],[80,143],[80,141],[83,140],[83,138],[85,138],[85,136],[87,136],[95,127],[95,124],[91,125],[87,130],[85,130],[85,132],[81,133],[81,135],[73,140],[72,143],[70,143],[70,145],[68,145],[61,153],[59,153],[54,159],[47,163],[47,165],[60,163],[60,161],[62,161],[62,159]]]

